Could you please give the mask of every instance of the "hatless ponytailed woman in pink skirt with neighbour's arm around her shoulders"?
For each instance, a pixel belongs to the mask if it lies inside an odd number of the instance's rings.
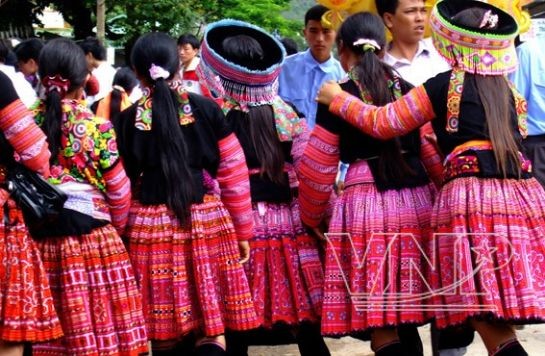
[[[378,16],[357,13],[343,22],[337,48],[348,73],[344,92],[385,104],[412,87],[381,61],[385,45]],[[437,176],[440,158],[426,129],[377,140],[320,105],[301,160],[301,216],[312,228],[323,219],[337,162],[349,164],[327,234],[322,333],[367,332],[377,355],[401,353],[396,327],[429,320],[418,299],[426,282],[416,272],[424,271],[434,192],[429,175]]]

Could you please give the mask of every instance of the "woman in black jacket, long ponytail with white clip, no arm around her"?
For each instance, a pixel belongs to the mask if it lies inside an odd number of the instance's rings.
[[[144,95],[120,114],[117,132],[133,184],[126,236],[148,335],[154,354],[193,334],[197,355],[221,355],[225,329],[257,326],[242,266],[253,231],[244,153],[217,104],[169,88],[172,38],[140,37],[131,62]]]

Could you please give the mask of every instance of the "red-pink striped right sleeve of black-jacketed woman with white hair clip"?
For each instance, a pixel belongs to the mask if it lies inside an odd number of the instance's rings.
[[[244,151],[235,134],[218,142],[220,164],[216,178],[221,200],[231,214],[239,240],[248,240],[254,233],[250,180]]]

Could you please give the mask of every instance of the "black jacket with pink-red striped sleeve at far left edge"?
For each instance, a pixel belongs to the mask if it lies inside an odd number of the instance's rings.
[[[21,102],[10,79],[0,72],[0,130],[11,147],[2,147],[0,163],[10,160],[13,149],[19,161],[33,171],[49,176],[49,156],[46,136],[36,125],[32,114]],[[7,198],[1,190],[0,203]]]

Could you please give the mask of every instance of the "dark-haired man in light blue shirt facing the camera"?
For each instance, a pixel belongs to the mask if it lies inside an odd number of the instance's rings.
[[[318,105],[314,98],[322,83],[345,76],[339,61],[331,55],[336,32],[322,26],[326,11],[322,5],[307,11],[303,33],[309,49],[287,57],[279,77],[278,94],[305,115],[309,128],[316,122]]]

